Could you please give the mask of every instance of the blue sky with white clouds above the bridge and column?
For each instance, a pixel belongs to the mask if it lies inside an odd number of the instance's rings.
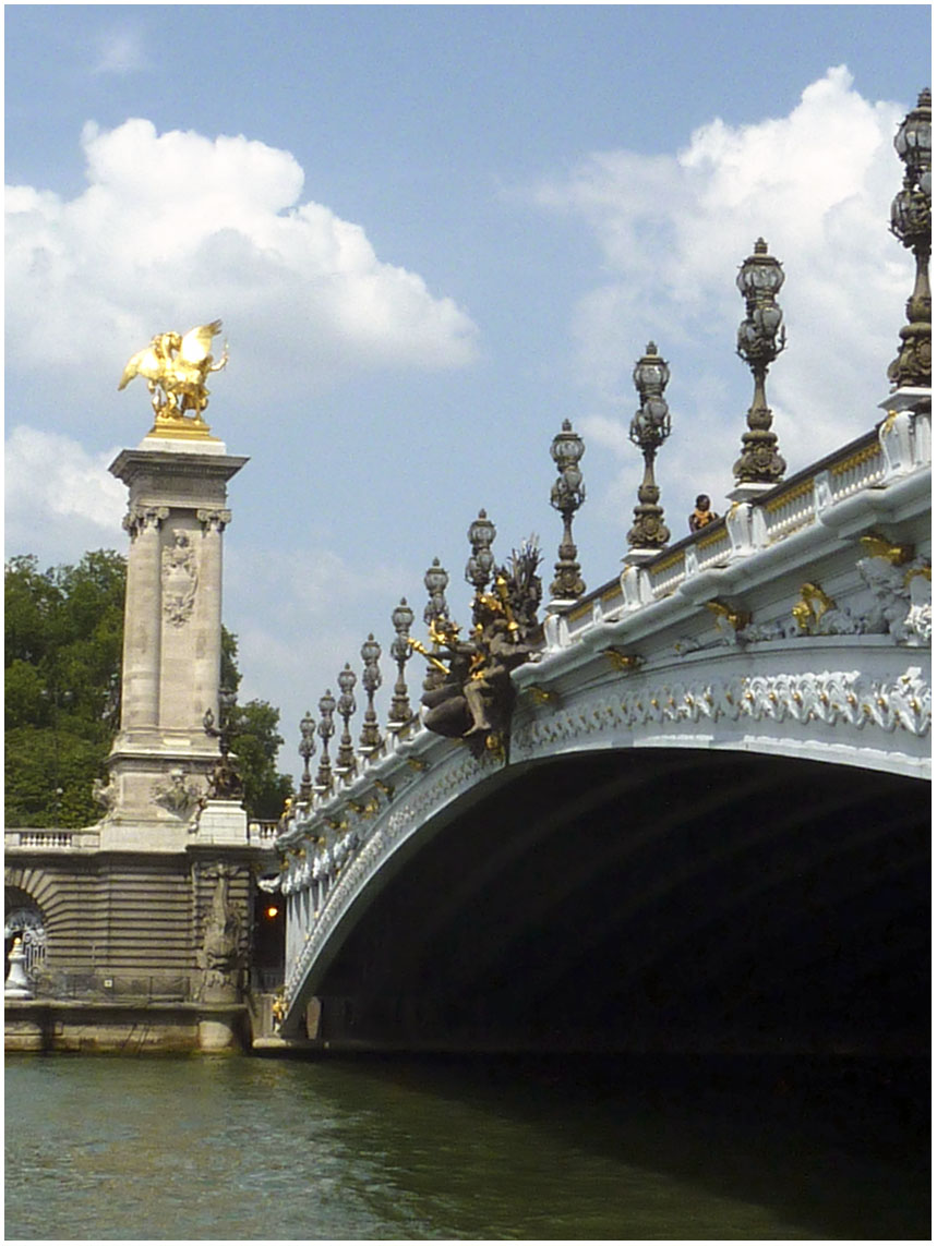
[[[424,574],[470,622],[467,528],[562,535],[549,456],[586,442],[573,536],[621,571],[654,340],[674,538],[733,488],[753,383],[739,267],[782,263],[768,378],[789,473],[866,432],[913,262],[892,140],[930,86],[927,5],[6,5],[5,549],[126,552],[107,468],[151,426],[159,331],[221,318],[206,417],[229,486],[240,699],[298,723]],[[414,703],[424,664],[407,668]]]

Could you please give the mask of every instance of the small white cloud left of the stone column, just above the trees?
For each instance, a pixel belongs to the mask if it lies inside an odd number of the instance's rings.
[[[127,505],[107,471],[116,447],[90,455],[71,437],[19,425],[4,451],[7,554],[70,562],[88,548],[113,548]]]

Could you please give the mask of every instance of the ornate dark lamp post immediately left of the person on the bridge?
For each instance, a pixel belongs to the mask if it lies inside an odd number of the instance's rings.
[[[644,455],[644,478],[638,487],[638,505],[634,507],[634,525],[628,533],[629,551],[625,562],[647,562],[667,546],[670,530],[664,523],[664,510],[659,506],[660,490],[654,481],[654,459],[670,436],[670,410],[664,397],[670,369],[658,355],[653,341],[634,365],[634,386],[640,406],[632,417],[628,436]]]

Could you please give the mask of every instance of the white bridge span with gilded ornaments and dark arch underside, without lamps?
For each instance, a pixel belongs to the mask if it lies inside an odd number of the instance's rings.
[[[507,751],[412,715],[305,792],[277,840],[285,1039],[926,1043],[930,390],[882,406],[548,606]]]

